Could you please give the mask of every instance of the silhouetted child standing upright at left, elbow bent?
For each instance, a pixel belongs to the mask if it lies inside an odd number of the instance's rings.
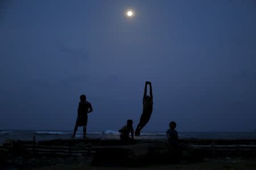
[[[74,128],[74,133],[72,138],[76,137],[76,131],[79,126],[83,126],[83,131],[84,131],[84,138],[86,136],[86,126],[87,126],[87,121],[88,121],[88,116],[87,114],[92,112],[93,108],[92,105],[86,101],[86,96],[81,95],[80,96],[80,102],[79,102],[79,107],[77,109],[77,119],[76,119],[76,125]]]

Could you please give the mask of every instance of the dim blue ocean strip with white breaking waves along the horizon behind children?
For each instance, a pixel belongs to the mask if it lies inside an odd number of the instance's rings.
[[[0,130],[0,144],[6,140],[23,140],[32,141],[36,137],[36,141],[44,141],[49,139],[70,139],[73,131],[49,131],[49,130]],[[189,132],[178,131],[180,139],[256,139],[256,133],[253,132]],[[96,139],[119,139],[118,131],[88,131],[88,138]],[[82,138],[82,131],[77,131],[77,139]],[[135,139],[166,139],[164,132],[145,132]]]

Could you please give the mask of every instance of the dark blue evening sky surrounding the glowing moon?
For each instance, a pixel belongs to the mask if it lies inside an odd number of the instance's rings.
[[[136,12],[127,18],[128,9]],[[256,1],[1,1],[0,129],[72,130],[79,96],[88,130],[256,128]]]

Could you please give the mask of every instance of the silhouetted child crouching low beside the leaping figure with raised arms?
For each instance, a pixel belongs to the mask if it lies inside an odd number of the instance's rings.
[[[121,141],[125,143],[131,143],[133,141],[133,135],[134,135],[134,130],[133,130],[133,120],[127,120],[127,124],[123,126],[123,128],[118,130],[120,134],[120,139]],[[129,134],[131,133],[131,138],[129,137]]]

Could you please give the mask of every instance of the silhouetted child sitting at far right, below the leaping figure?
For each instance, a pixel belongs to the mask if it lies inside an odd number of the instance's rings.
[[[176,123],[174,121],[170,122],[169,124],[170,129],[166,131],[166,136],[167,136],[167,142],[168,142],[168,147],[170,150],[170,154],[172,156],[172,160],[176,162],[177,160],[177,131],[175,130],[176,128]]]

